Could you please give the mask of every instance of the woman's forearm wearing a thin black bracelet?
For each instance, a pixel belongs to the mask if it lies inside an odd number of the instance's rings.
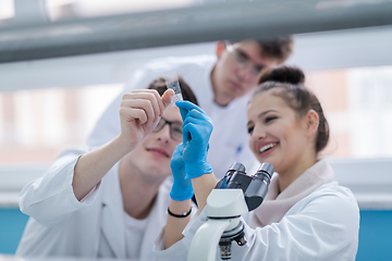
[[[187,213],[191,210],[191,199],[184,201],[171,199],[169,209],[174,214]],[[168,221],[164,228],[164,249],[171,247],[184,237],[182,232],[189,221],[191,215],[186,217],[174,217],[168,214]]]

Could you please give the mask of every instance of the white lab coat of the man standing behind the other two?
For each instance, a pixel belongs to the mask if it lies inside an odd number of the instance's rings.
[[[213,121],[208,160],[216,176],[223,177],[235,161],[243,163],[247,170],[254,167],[257,161],[249,149],[246,129],[249,95],[233,100],[226,107],[217,105],[210,80],[216,62],[216,55],[197,55],[157,59],[147,63],[132,75],[124,90],[103,112],[88,139],[88,145],[90,147],[103,145],[120,133],[118,115],[123,94],[132,89],[147,88],[152,79],[174,71],[189,85],[200,108]]]

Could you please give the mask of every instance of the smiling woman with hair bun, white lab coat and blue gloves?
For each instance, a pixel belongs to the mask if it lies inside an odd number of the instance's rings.
[[[358,206],[350,189],[333,182],[332,167],[319,157],[328,142],[329,127],[320,102],[304,82],[301,70],[278,66],[261,76],[248,102],[249,147],[259,162],[271,163],[277,173],[265,201],[245,224],[247,244],[232,244],[232,260],[355,260]],[[177,105],[185,110],[184,140],[173,159],[182,159],[185,169],[193,170],[189,177],[200,210],[217,184],[206,157],[211,123],[199,108],[187,102]],[[170,208],[177,203],[171,200]],[[157,258],[185,260],[206,220],[203,210],[183,231],[169,216],[156,241]]]

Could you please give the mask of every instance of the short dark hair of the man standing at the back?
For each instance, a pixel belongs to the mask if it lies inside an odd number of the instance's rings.
[[[257,40],[261,47],[262,55],[278,59],[283,63],[293,52],[293,36],[281,36],[266,40]]]

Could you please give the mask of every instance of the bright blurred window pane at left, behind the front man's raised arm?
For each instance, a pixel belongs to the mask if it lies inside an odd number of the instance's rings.
[[[83,146],[122,85],[0,92],[0,163],[51,162]]]

